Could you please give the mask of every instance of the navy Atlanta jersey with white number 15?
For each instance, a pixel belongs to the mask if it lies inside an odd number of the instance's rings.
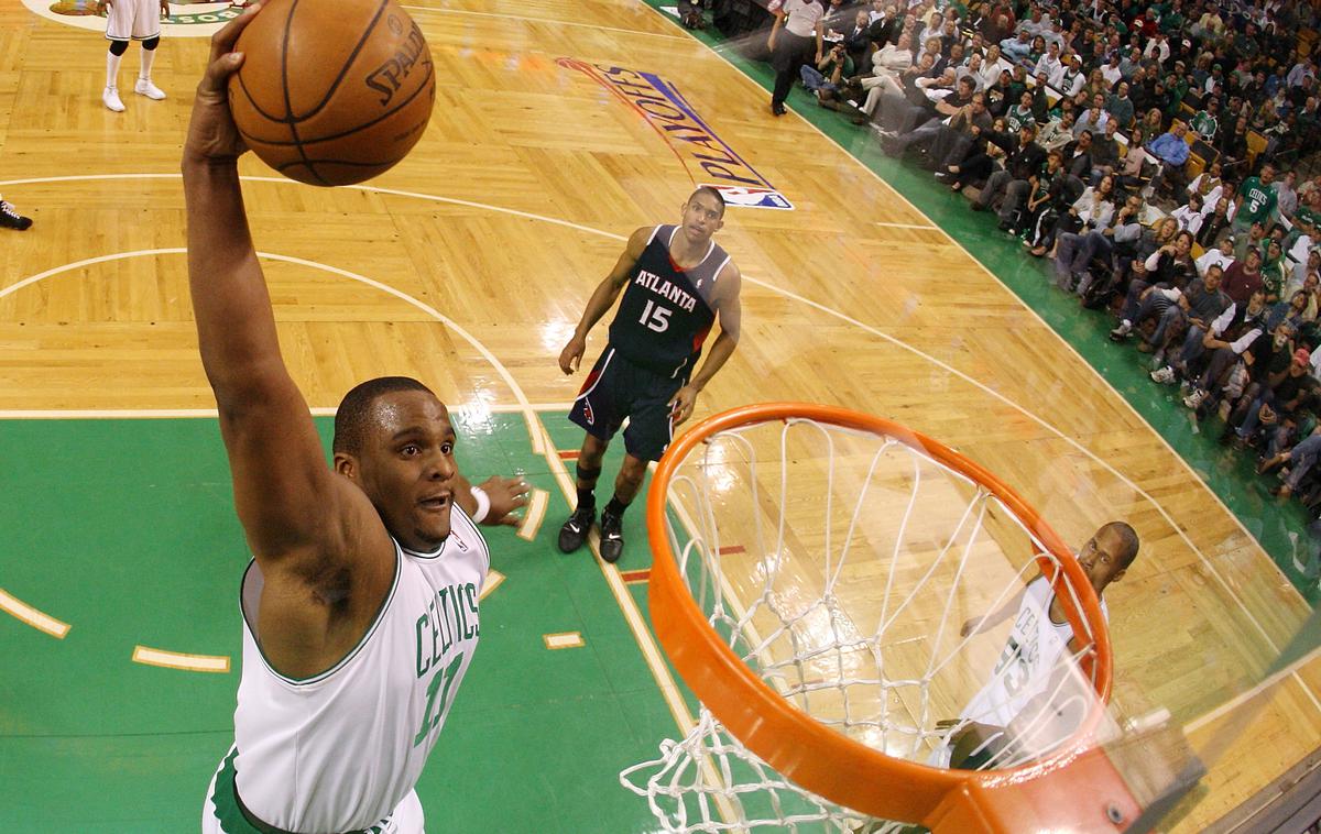
[[[675,226],[658,226],[624,288],[610,344],[634,364],[687,379],[716,321],[716,280],[729,256],[715,241],[696,267],[670,257]]]

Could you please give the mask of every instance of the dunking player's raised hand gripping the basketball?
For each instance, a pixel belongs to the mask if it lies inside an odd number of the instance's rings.
[[[227,83],[230,75],[243,66],[243,53],[232,51],[234,44],[260,9],[262,4],[247,7],[211,36],[211,55],[206,74],[197,84],[193,117],[184,141],[185,162],[234,162],[247,150],[230,115]]]

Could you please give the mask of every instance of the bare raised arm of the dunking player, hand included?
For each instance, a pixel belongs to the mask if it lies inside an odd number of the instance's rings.
[[[280,356],[239,189],[236,161],[247,148],[230,116],[226,82],[242,63],[230,50],[259,8],[211,38],[182,173],[202,366],[219,406],[239,520],[254,556],[268,569],[291,557],[343,550],[346,525],[328,520],[345,512],[346,488],[326,466],[306,402]],[[365,505],[358,513],[371,509],[365,496],[358,504]]]

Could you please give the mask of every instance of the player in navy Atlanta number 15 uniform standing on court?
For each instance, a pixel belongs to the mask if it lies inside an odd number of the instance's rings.
[[[624,418],[624,465],[614,496],[601,512],[601,558],[624,552],[622,516],[646,474],[674,437],[674,426],[692,414],[697,393],[725,364],[738,343],[738,268],[711,239],[724,226],[725,201],[700,187],[683,205],[678,226],[639,228],[614,269],[587,302],[573,338],[560,352],[560,369],[572,373],[587,351],[587,334],[624,292],[610,322],[610,342],[588,373],[569,420],[587,435],[577,459],[577,508],[560,528],[559,546],[583,546],[596,520],[596,482],[601,458]],[[701,368],[701,344],[720,319]]]

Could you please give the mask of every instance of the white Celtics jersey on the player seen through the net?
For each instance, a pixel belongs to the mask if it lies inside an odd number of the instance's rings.
[[[1022,709],[1037,695],[1045,693],[1052,680],[1055,677],[1057,664],[1069,653],[1069,640],[1073,637],[1073,628],[1067,623],[1059,626],[1050,622],[1050,603],[1054,594],[1045,577],[1028,583],[1018,606],[1018,614],[1013,622],[1013,629],[1005,643],[1000,660],[996,661],[991,681],[982,688],[968,706],[963,707],[960,718],[975,721],[995,727],[1007,727],[1009,722],[1020,717]],[[1110,619],[1106,602],[1100,603],[1100,612]],[[1078,676],[1069,676],[1061,691],[1052,697],[1052,702],[1059,706],[1063,699],[1094,698],[1079,691]],[[1081,705],[1087,706],[1087,705]],[[1069,710],[1077,715],[1075,710]],[[1022,722],[1020,722],[1022,723]],[[1075,728],[1062,727],[1063,736]],[[1048,734],[1058,735],[1058,734]],[[1050,743],[1061,739],[1042,739]]]

